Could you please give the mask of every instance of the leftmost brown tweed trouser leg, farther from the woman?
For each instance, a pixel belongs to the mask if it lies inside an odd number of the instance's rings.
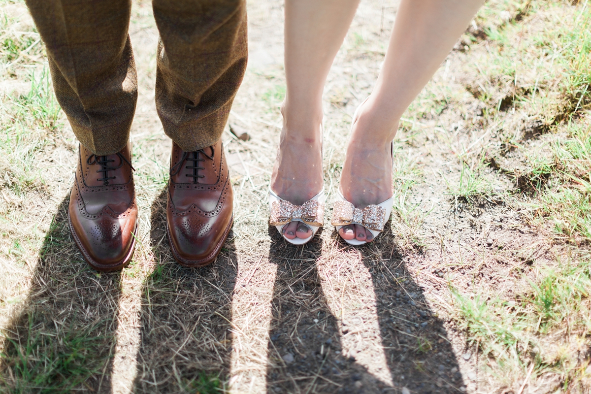
[[[27,0],[47,47],[53,87],[80,143],[98,155],[129,139],[137,75],[131,0]]]

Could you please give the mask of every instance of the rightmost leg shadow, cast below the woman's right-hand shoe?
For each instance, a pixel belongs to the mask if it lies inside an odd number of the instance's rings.
[[[376,295],[379,330],[392,380],[416,393],[465,392],[443,322],[428,307],[389,232],[358,247]]]

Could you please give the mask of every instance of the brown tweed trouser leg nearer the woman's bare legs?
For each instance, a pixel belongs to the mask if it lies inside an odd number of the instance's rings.
[[[215,144],[246,70],[245,0],[152,0],[156,109],[183,151]]]

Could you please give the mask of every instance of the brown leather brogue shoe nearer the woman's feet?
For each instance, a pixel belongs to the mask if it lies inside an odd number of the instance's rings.
[[[173,142],[166,221],[168,240],[180,265],[213,262],[232,227],[233,194],[222,140],[196,152]]]

